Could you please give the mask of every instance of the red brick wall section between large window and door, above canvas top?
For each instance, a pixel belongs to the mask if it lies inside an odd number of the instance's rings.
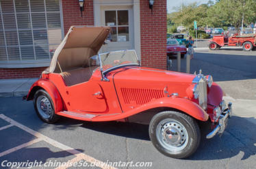
[[[83,17],[78,0],[62,0],[62,13],[65,34],[72,25],[94,25],[93,0],[85,1]]]

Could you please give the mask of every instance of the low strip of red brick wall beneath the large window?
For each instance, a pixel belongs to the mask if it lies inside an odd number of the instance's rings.
[[[6,78],[39,78],[46,67],[33,68],[0,68],[0,79]]]

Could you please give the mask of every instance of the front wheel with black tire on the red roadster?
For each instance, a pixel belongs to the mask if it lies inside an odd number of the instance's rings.
[[[169,143],[164,139],[166,136]],[[160,153],[180,159],[188,157],[196,151],[201,141],[201,132],[196,121],[187,114],[164,111],[155,114],[151,119],[149,137]],[[175,140],[175,137],[177,140]]]

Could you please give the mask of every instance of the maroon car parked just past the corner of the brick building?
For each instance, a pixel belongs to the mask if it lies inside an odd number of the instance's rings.
[[[178,52],[181,52],[181,58],[187,53],[187,48],[183,45],[180,45],[179,42],[175,39],[167,39],[167,55],[177,55]]]

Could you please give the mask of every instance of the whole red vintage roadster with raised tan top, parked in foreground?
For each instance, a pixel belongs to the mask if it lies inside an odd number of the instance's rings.
[[[97,54],[108,27],[71,27],[51,65],[24,97],[38,117],[149,124],[153,145],[164,155],[185,158],[199,147],[199,122],[222,134],[231,104],[212,76],[141,67],[135,50]]]

